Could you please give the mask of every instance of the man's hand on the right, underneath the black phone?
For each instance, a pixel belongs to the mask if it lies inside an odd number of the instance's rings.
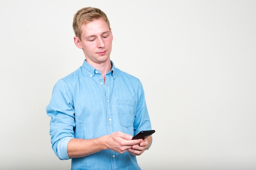
[[[141,155],[144,153],[145,150],[147,150],[151,144],[152,137],[149,136],[146,139],[144,139],[139,144],[133,145],[132,148],[128,149],[128,152],[132,155]]]

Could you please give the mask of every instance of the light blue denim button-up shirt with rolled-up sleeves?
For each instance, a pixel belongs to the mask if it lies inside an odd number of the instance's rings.
[[[99,70],[86,61],[57,81],[46,107],[51,117],[52,148],[59,159],[70,159],[67,144],[72,138],[92,139],[121,131],[135,135],[151,130],[144,90],[138,78],[115,68],[106,74],[104,83]],[[72,170],[140,169],[136,157],[102,150],[73,158]]]

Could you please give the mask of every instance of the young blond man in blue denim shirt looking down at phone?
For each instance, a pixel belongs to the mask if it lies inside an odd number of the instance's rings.
[[[113,35],[103,11],[80,9],[73,28],[85,60],[56,83],[46,107],[52,148],[59,159],[72,158],[73,170],[140,169],[136,155],[152,142],[132,140],[151,130],[141,82],[110,60]]]

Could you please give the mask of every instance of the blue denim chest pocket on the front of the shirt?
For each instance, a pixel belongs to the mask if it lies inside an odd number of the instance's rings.
[[[118,99],[119,123],[124,127],[133,126],[135,119],[135,100]]]

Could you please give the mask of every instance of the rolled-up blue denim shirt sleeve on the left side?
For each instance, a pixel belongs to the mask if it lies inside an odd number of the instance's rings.
[[[55,84],[46,112],[51,117],[49,134],[54,153],[59,159],[70,159],[67,144],[74,138],[74,104],[70,87],[64,80]]]

